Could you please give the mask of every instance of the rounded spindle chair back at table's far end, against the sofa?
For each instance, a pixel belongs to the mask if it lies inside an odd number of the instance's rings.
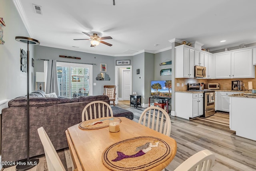
[[[110,105],[100,100],[90,102],[84,107],[84,110],[82,111],[82,122],[84,122],[84,120],[93,119],[92,116],[94,116],[94,119],[103,117],[114,117]]]

